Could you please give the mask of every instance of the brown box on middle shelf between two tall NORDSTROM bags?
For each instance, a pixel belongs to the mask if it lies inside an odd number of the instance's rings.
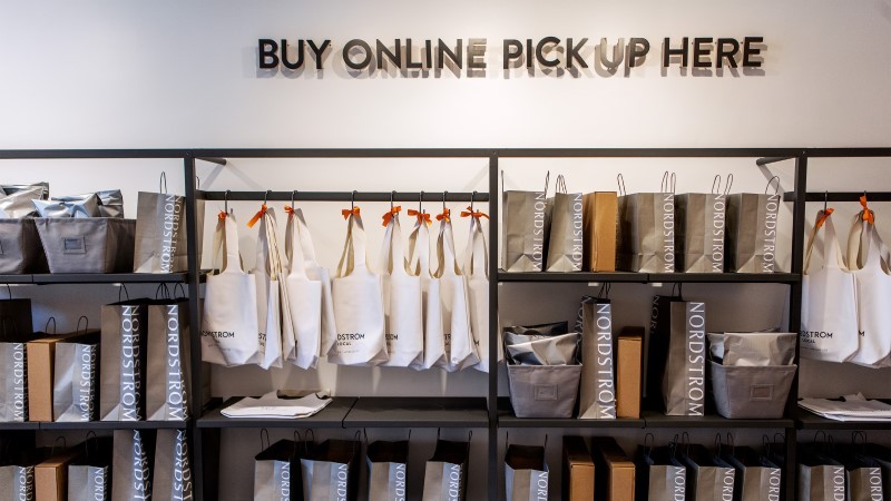
[[[616,353],[616,418],[639,419],[644,327],[624,327]]]

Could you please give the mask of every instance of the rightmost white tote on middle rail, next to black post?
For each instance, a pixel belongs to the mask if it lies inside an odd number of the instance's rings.
[[[470,310],[470,332],[477,345],[480,363],[473,369],[489,372],[489,248],[486,246],[486,235],[482,230],[482,220],[486,216],[468,207],[461,216],[470,217],[470,236],[464,252],[464,266],[461,271],[467,278],[467,298]],[[486,216],[488,217],[488,216]],[[500,330],[499,330],[500,331]],[[501,352],[501,333],[498,333],[498,362],[503,360]]]

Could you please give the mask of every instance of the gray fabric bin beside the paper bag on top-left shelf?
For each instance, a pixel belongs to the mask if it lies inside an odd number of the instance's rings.
[[[35,218],[50,273],[129,273],[136,219]]]

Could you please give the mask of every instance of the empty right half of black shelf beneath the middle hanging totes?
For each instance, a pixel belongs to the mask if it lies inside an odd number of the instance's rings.
[[[344,428],[487,428],[486,397],[360,397]]]

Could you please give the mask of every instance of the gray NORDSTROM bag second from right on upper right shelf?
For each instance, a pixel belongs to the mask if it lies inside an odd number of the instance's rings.
[[[733,175],[730,175],[726,188],[721,193],[721,176],[715,176],[712,193],[687,193],[675,196],[678,272],[724,272],[727,191],[732,183]]]

